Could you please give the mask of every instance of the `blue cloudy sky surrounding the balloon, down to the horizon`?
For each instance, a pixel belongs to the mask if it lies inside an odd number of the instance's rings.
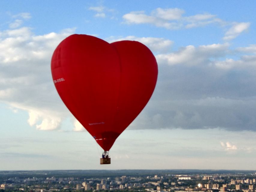
[[[256,1],[0,1],[0,170],[256,170]],[[62,103],[50,61],[72,34],[139,41],[149,103],[111,164]]]

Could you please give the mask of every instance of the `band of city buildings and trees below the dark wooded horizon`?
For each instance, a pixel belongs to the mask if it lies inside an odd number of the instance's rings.
[[[113,175],[113,174],[112,174]],[[0,175],[0,191],[255,192],[256,174],[156,174],[148,176],[59,177]]]

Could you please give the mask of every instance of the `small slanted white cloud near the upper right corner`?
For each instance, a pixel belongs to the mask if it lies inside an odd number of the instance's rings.
[[[224,40],[232,40],[246,31],[250,27],[249,22],[234,23],[233,26],[225,33]]]

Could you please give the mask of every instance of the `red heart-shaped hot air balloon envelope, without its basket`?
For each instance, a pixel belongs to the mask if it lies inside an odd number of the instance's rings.
[[[149,101],[158,75],[145,45],[77,34],[57,46],[51,70],[62,101],[105,155]]]

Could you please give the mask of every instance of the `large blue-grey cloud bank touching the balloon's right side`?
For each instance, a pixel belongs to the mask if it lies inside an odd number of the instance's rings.
[[[256,55],[252,45],[186,46],[156,55],[155,92],[130,129],[256,131]],[[246,54],[245,51],[248,50]],[[233,54],[240,58],[230,58]]]

